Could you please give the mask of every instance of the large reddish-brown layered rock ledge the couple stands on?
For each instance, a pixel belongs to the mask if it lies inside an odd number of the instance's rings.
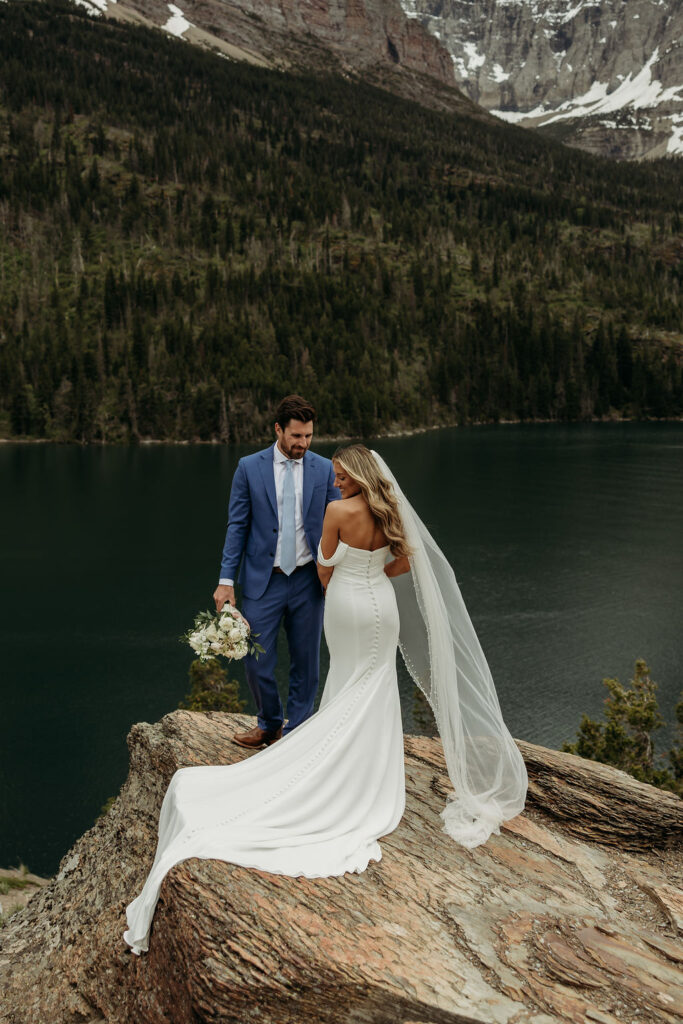
[[[250,755],[245,716],[175,712],[129,736],[130,773],[59,873],[0,932],[0,1021],[598,1024],[683,1006],[683,802],[519,741],[523,814],[465,850],[440,828],[437,739],[405,737],[408,806],[361,876],[302,880],[187,860],[150,953],[122,940],[183,766]]]

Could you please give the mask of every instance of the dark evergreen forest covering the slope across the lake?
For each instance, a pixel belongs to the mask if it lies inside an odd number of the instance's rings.
[[[682,170],[0,3],[0,436],[680,417]]]

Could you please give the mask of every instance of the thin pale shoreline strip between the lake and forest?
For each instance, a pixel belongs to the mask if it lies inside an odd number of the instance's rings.
[[[633,416],[616,417],[592,417],[590,420],[475,420],[472,423],[438,423],[429,427],[405,427],[399,430],[388,430],[381,434],[367,434],[368,440],[387,440],[395,437],[415,437],[418,434],[433,433],[437,430],[462,429],[463,427],[509,427],[509,426],[541,426],[554,425],[558,427],[581,426],[588,423],[683,423],[683,417],[646,417],[637,419]],[[330,443],[333,441],[357,440],[359,434],[316,434],[314,443]],[[200,439],[194,440],[173,440],[168,437],[140,437],[138,440],[128,441],[79,441],[75,439],[56,440],[53,437],[0,437],[0,444],[76,444],[79,447],[137,447],[144,445],[168,444],[174,447],[232,447],[238,444],[262,444],[269,443],[271,437],[255,438],[252,441],[220,441],[215,438],[209,441]]]

